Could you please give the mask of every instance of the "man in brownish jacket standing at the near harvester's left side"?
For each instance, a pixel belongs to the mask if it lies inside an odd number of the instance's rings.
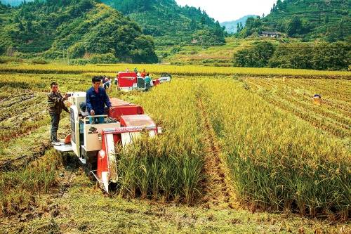
[[[51,93],[48,94],[48,112],[51,117],[51,143],[53,145],[61,145],[58,141],[58,124],[62,110],[69,113],[67,106],[63,103],[67,98],[68,94],[62,97],[58,91],[58,83],[52,82]]]

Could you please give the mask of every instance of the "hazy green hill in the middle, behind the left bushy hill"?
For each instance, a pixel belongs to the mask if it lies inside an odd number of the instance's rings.
[[[102,0],[138,22],[157,46],[225,43],[225,32],[200,8],[178,6],[174,0]]]

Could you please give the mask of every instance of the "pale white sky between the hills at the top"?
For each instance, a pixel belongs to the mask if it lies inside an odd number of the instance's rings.
[[[267,15],[277,0],[176,0],[180,6],[201,7],[219,22],[237,20],[244,15]]]

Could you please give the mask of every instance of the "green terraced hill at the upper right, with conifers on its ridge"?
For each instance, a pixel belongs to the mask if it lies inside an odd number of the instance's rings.
[[[241,36],[277,31],[304,40],[350,38],[350,0],[278,0],[265,18],[249,18]]]

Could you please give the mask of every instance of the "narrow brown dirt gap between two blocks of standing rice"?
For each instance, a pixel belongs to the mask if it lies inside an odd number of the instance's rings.
[[[208,209],[214,207],[234,208],[232,187],[228,183],[229,176],[225,171],[216,134],[211,126],[211,119],[208,117],[201,98],[199,98],[197,105],[201,112],[201,126],[206,133],[204,138],[206,145],[204,174],[206,179],[204,180],[205,195],[202,202]]]

